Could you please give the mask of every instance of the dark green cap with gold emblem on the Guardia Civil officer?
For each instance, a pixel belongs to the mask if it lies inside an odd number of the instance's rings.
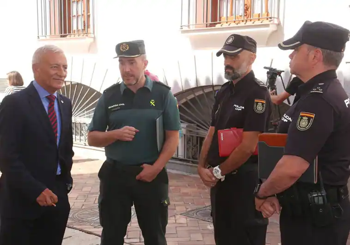
[[[138,57],[146,54],[144,40],[134,40],[130,42],[122,42],[116,45],[116,53],[118,57]]]

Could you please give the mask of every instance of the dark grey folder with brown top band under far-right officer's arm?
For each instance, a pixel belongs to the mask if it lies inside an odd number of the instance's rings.
[[[258,172],[260,179],[267,179],[282,158],[287,134],[262,133],[258,142]],[[299,178],[300,182],[317,183],[317,156],[313,164]]]

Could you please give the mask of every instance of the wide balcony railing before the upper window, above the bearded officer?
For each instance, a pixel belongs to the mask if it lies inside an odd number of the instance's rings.
[[[280,0],[181,0],[181,29],[279,18]]]

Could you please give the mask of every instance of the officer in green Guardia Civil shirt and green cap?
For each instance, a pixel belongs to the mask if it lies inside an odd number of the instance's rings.
[[[134,204],[145,245],[166,245],[170,202],[165,165],[179,143],[177,102],[170,87],[144,75],[144,41],[119,43],[116,52],[123,82],[103,92],[87,135],[89,145],[105,147],[107,157],[98,173],[101,244],[124,244]],[[157,118],[165,130],[160,152]]]

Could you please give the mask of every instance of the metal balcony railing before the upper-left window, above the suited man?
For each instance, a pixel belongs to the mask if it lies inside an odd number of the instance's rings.
[[[94,33],[94,0],[36,0],[38,38]]]

